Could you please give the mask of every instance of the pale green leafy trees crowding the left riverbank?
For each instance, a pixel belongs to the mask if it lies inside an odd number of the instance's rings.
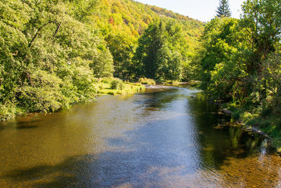
[[[93,99],[94,76],[112,75],[113,70],[103,39],[86,18],[96,10],[95,4],[92,0],[0,2],[3,108],[49,112]]]

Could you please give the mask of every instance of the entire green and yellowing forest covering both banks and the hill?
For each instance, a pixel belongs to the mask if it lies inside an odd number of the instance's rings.
[[[95,99],[104,77],[199,80],[281,145],[281,1],[244,1],[240,19],[226,2],[202,23],[131,0],[0,1],[1,120]]]

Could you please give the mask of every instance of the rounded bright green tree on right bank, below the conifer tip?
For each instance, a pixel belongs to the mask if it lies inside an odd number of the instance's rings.
[[[246,33],[235,18],[216,18],[206,25],[201,51],[201,79],[204,89],[214,99],[240,100],[245,65],[243,51]],[[242,92],[242,93],[241,93]],[[239,98],[239,99],[238,99]]]

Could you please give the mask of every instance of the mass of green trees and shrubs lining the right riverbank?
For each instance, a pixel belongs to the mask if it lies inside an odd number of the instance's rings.
[[[242,10],[240,20],[206,25],[197,61],[201,87],[228,102],[233,118],[259,125],[281,146],[281,1],[247,0]]]

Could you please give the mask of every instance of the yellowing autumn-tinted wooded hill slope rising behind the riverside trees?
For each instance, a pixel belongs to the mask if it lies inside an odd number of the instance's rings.
[[[100,0],[98,10],[96,26],[104,36],[121,32],[138,39],[155,20],[172,19],[183,26],[185,38],[193,50],[204,30],[204,23],[199,20],[131,0]]]

